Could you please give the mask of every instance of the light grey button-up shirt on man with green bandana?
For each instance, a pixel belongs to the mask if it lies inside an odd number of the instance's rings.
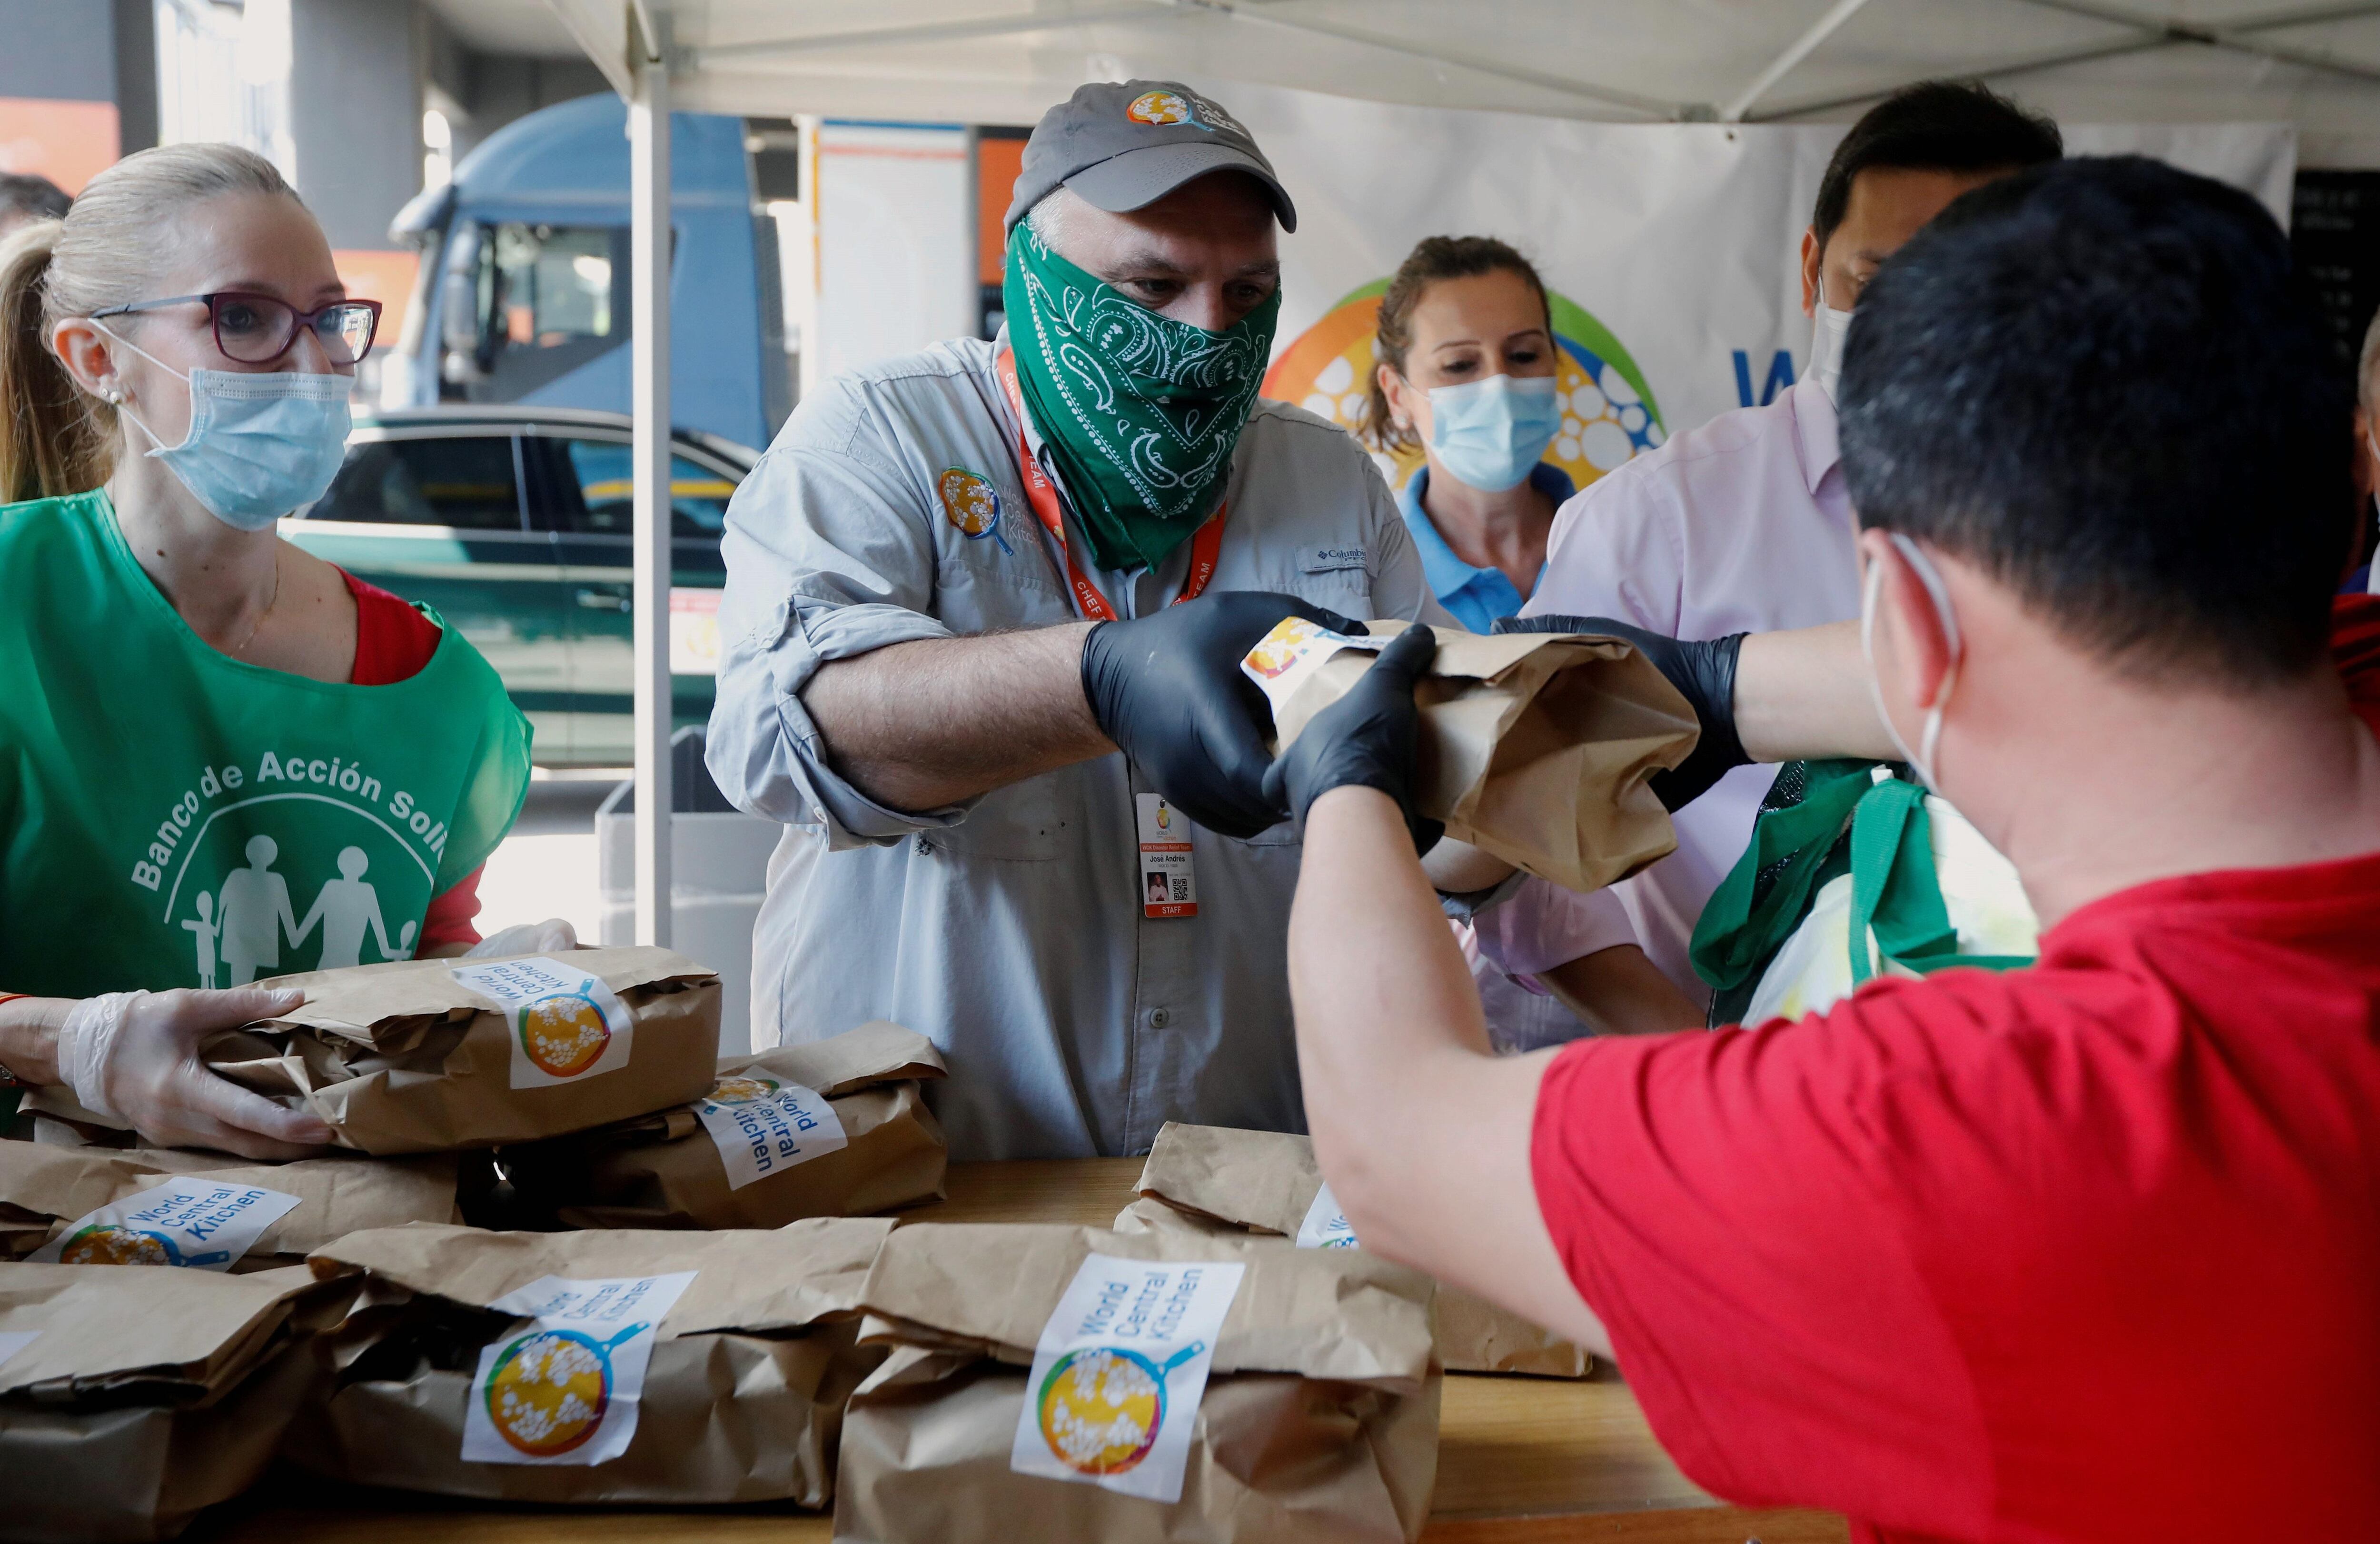
[[[828,764],[802,688],[892,642],[1073,621],[1064,554],[1026,502],[997,347],[852,371],[793,414],[728,504],[709,766],[788,826],[752,937],[757,1044],[892,1018],[942,1049],[952,1156],[1145,1151],[1166,1121],[1304,1130],[1285,935],[1297,833],[1192,828],[1195,918],[1145,918],[1123,757],[950,809],[869,799]],[[1047,454],[1033,438],[1035,454]],[[1054,476],[1054,469],[1052,469]],[[1211,590],[1452,626],[1397,502],[1340,428],[1257,402],[1233,457]],[[1119,616],[1164,571],[1102,573]]]

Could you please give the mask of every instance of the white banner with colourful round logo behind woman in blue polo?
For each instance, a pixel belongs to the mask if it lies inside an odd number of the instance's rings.
[[[1809,362],[1799,243],[1842,124],[1583,124],[1254,86],[1216,100],[1297,200],[1269,397],[1354,426],[1378,293],[1423,236],[1499,236],[1545,274],[1568,407],[1547,459],[1580,485]],[[2290,216],[2287,124],[2075,124],[2066,148],[2156,155]]]

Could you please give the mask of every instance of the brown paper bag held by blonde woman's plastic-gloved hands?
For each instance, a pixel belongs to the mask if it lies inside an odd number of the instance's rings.
[[[536,959],[555,956],[524,956]],[[559,966],[602,983],[626,1011],[619,1033],[590,999],[557,994],[507,1011],[455,978],[505,964],[521,961],[409,959],[278,975],[257,985],[302,987],[305,1006],[214,1040],[207,1061],[312,1109],[340,1147],[369,1154],[536,1142],[650,1116],[712,1087],[719,978],[704,966],[669,949],[564,952]],[[557,1025],[574,1040],[557,1040]]]

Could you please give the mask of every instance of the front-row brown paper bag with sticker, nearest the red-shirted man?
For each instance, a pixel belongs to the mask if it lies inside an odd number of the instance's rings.
[[[843,1423],[838,1544],[1411,1542],[1438,1475],[1423,1275],[1185,1232],[904,1225]]]

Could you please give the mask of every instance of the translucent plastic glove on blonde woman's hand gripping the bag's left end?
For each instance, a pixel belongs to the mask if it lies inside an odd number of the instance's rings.
[[[243,1159],[305,1159],[331,1142],[319,1118],[219,1078],[198,1049],[224,1030],[288,1013],[305,992],[109,992],[57,1030],[57,1075],[95,1116],[129,1121],[159,1147],[217,1147]]]

